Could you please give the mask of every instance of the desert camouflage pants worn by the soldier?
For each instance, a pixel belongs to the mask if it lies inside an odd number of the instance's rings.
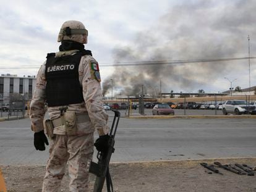
[[[88,163],[93,157],[93,133],[79,136],[56,135],[49,153],[43,192],[59,191],[67,162],[69,191],[89,191]]]

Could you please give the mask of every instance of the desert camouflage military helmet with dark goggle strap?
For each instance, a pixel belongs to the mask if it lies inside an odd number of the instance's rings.
[[[76,41],[78,43],[87,43],[88,31],[82,22],[77,20],[68,20],[64,22],[59,31],[58,42],[63,40]]]

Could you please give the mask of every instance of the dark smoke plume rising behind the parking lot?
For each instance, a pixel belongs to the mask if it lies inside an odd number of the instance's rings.
[[[255,10],[255,1],[186,1],[126,47],[115,48],[115,63],[247,57],[247,35],[256,32]],[[159,93],[160,81],[165,92],[213,88],[225,70],[233,69],[242,69],[241,62],[115,67],[103,82],[103,95],[111,91],[110,79],[123,95],[141,93],[142,85],[145,93]]]

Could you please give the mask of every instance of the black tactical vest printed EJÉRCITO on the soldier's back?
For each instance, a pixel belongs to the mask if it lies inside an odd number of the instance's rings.
[[[79,82],[79,64],[81,57],[92,53],[79,51],[74,55],[55,57],[47,54],[46,60],[46,102],[49,107],[66,106],[83,100],[82,86]]]

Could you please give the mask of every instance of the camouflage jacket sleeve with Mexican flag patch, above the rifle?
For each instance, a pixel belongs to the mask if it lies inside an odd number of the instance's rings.
[[[108,114],[106,114],[102,102],[100,72],[97,68],[98,63],[93,59],[93,57],[87,56],[83,58],[83,64],[85,65],[83,67],[82,86],[85,106],[93,126],[98,131],[98,134],[100,136],[106,135],[109,132],[107,125]],[[94,66],[94,68],[92,66]]]

